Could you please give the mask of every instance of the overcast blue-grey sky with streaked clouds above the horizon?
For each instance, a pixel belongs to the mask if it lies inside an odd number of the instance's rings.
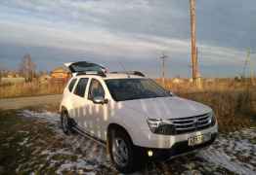
[[[89,60],[157,77],[191,76],[189,0],[1,0],[0,66],[15,69],[30,53],[39,70]],[[197,0],[200,72],[242,72],[246,49],[256,67],[256,1]],[[256,71],[256,70],[255,70]]]

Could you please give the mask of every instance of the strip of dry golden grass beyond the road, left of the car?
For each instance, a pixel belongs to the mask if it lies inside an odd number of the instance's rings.
[[[38,82],[32,82],[0,86],[0,98],[59,94],[63,93],[64,85],[64,83],[49,82],[46,84],[39,84]]]

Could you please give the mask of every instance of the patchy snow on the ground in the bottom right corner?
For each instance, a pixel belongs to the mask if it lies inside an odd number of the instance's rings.
[[[216,142],[200,157],[224,166],[238,174],[256,174],[256,145],[250,139],[256,139],[256,129],[249,128],[230,134],[221,134]]]

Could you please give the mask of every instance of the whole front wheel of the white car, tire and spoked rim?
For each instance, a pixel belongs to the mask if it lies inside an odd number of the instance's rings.
[[[112,132],[109,151],[111,160],[118,171],[132,173],[142,168],[143,157],[125,131],[118,129]]]

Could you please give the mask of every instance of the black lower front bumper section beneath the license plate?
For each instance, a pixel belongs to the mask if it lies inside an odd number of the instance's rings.
[[[182,141],[175,143],[170,149],[155,149],[155,148],[139,148],[144,155],[148,155],[148,152],[152,152],[152,159],[168,159],[172,157],[179,157],[192,152],[207,148],[210,146],[216,139],[217,133],[212,134],[211,139],[207,142],[196,146],[189,146],[188,141]]]

